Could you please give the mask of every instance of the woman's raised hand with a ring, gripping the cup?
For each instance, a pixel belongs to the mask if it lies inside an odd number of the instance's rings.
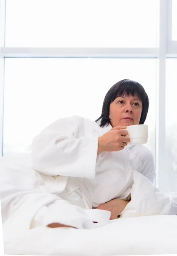
[[[130,138],[126,126],[118,125],[98,137],[98,153],[103,151],[119,151],[124,149],[124,142],[129,143]]]

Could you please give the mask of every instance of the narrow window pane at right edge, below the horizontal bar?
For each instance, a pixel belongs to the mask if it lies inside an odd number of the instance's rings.
[[[166,172],[159,183],[166,192],[177,192],[177,59],[166,60]]]

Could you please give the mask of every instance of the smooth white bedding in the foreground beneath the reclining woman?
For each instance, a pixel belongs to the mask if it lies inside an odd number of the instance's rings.
[[[94,224],[97,226],[97,224]],[[177,253],[177,216],[119,218],[95,229],[29,230],[10,244],[6,254],[18,255],[155,255]]]

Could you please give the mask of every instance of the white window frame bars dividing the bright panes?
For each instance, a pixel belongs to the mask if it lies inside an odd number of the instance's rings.
[[[3,93],[5,58],[157,58],[156,186],[158,173],[166,168],[166,58],[177,58],[177,41],[171,41],[172,0],[160,0],[160,33],[157,48],[34,48],[5,47],[6,0],[0,0],[0,155],[3,154]],[[160,111],[159,111],[160,110]]]

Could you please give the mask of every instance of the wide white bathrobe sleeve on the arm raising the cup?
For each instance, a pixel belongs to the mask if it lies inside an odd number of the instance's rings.
[[[94,178],[98,137],[84,137],[79,116],[59,119],[32,141],[33,168],[45,175]],[[87,122],[87,126],[93,125]]]

